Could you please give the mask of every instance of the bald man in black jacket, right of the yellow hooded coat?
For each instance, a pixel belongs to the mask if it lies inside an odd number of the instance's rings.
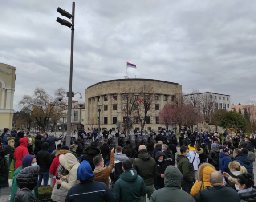
[[[224,186],[223,176],[219,171],[211,172],[210,182],[212,187],[200,190],[199,194],[195,195],[196,202],[240,202],[236,190]]]

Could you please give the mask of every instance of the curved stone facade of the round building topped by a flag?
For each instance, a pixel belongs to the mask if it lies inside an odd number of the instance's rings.
[[[127,93],[129,88],[140,88],[142,86],[151,86],[152,92],[158,95],[158,100],[154,101],[154,110],[150,110],[148,116],[150,116],[150,124],[146,124],[145,128],[155,129],[164,125],[156,123],[156,117],[159,117],[159,111],[167,103],[174,104],[174,97],[182,94],[182,85],[177,83],[151,80],[151,79],[118,79],[103,81],[85,89],[85,129],[91,129],[98,127],[98,107],[97,105],[102,104],[100,113],[101,128],[114,129],[116,123],[114,119],[120,122],[120,129],[122,129],[122,122],[124,117],[127,116],[122,110],[122,105],[125,103],[123,94]],[[111,98],[117,98],[114,101]],[[155,104],[159,106],[158,110],[155,110]],[[113,105],[117,105],[117,109],[113,110]],[[116,118],[115,118],[116,117]],[[134,115],[131,114],[131,120],[134,120]],[[140,124],[133,124],[133,129],[140,128]]]

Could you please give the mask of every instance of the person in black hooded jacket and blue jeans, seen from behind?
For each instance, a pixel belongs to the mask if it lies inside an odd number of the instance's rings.
[[[49,170],[52,163],[51,154],[48,149],[49,143],[45,142],[42,145],[42,150],[37,153],[37,165],[40,166],[37,187],[41,186],[42,179],[44,179],[44,186],[48,186]]]

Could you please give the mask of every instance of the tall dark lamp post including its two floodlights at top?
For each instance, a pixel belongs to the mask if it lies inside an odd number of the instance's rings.
[[[57,22],[61,23],[61,25],[65,25],[71,28],[71,53],[70,53],[70,73],[69,73],[69,92],[67,93],[68,99],[68,120],[67,120],[67,135],[66,135],[66,145],[70,146],[71,143],[71,110],[72,110],[72,97],[74,97],[74,93],[72,92],[72,77],[73,77],[73,52],[74,52],[74,30],[75,30],[75,2],[72,4],[72,14],[62,10],[61,8],[57,9],[57,12],[61,13],[62,16],[67,18],[72,18],[72,23],[57,18]]]

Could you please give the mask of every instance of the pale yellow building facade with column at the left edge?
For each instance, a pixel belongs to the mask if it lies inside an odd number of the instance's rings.
[[[0,63],[0,129],[12,129],[16,68]]]

